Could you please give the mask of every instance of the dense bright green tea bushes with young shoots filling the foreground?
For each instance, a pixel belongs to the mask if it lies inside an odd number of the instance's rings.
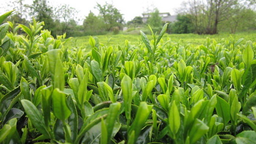
[[[0,25],[0,143],[255,142],[255,42],[175,43],[165,24],[87,52],[43,25]]]

